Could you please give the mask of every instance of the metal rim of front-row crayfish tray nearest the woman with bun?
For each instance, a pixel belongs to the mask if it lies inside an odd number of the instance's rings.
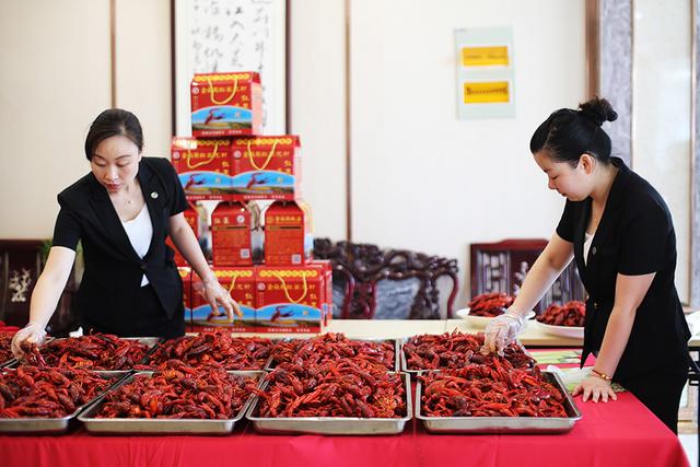
[[[419,381],[416,389],[416,418],[422,420],[425,429],[433,433],[565,433],[578,420],[581,420],[581,412],[559,375],[542,372],[542,376],[564,394],[564,409],[568,417],[425,417],[421,415],[422,382]]]

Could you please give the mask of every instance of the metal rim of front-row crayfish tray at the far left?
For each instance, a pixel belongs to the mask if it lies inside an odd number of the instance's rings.
[[[70,428],[75,424],[77,416],[88,406],[93,404],[94,400],[100,399],[106,392],[108,392],[112,387],[119,384],[124,377],[129,375],[130,371],[118,371],[118,372],[95,372],[101,377],[108,380],[115,378],[115,381],[105,388],[105,390],[95,397],[92,400],[83,404],[80,407],[75,408],[75,411],[61,418],[38,418],[38,417],[27,417],[20,419],[5,419],[0,418],[0,433],[2,434],[63,434],[70,430]]]

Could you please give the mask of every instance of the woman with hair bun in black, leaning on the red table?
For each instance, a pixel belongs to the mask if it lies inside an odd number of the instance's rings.
[[[616,118],[606,100],[593,98],[535,131],[530,151],[567,203],[513,306],[487,327],[485,351],[522,332],[525,313],[573,258],[588,293],[581,364],[597,357],[574,395],[616,399],[610,382],[619,382],[675,432],[690,338],[674,284],[676,235],[661,195],[610,157],[600,126]]]

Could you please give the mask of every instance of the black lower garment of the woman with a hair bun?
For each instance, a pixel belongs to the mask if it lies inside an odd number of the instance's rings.
[[[678,406],[687,382],[688,363],[681,361],[626,378],[620,384],[677,434]]]

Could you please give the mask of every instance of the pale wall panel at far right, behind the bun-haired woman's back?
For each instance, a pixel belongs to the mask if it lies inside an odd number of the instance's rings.
[[[632,168],[664,197],[676,229],[676,288],[690,277],[690,1],[634,1]]]

